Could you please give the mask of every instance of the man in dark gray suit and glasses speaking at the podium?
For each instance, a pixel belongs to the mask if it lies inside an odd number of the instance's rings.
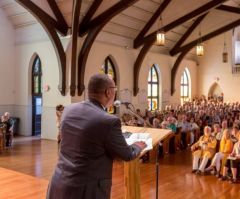
[[[94,75],[89,101],[64,109],[59,160],[49,183],[48,199],[110,199],[113,159],[135,159],[146,145],[127,145],[113,104],[116,86],[107,75]]]

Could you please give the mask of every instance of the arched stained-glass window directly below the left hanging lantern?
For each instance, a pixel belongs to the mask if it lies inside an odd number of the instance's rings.
[[[148,110],[159,108],[159,78],[156,66],[153,65],[148,73]]]

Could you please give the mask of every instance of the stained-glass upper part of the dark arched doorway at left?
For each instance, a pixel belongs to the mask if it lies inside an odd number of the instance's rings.
[[[33,62],[32,66],[32,94],[41,95],[41,83],[42,83],[42,68],[41,60],[37,56]]]

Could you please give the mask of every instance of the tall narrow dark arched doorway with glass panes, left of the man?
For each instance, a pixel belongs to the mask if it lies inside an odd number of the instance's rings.
[[[32,135],[41,135],[42,117],[42,66],[39,56],[32,65]]]

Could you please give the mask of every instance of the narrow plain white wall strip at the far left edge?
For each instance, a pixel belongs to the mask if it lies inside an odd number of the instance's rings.
[[[2,9],[0,9],[0,27],[0,112],[3,112],[8,108],[12,111],[14,104],[15,35]]]

